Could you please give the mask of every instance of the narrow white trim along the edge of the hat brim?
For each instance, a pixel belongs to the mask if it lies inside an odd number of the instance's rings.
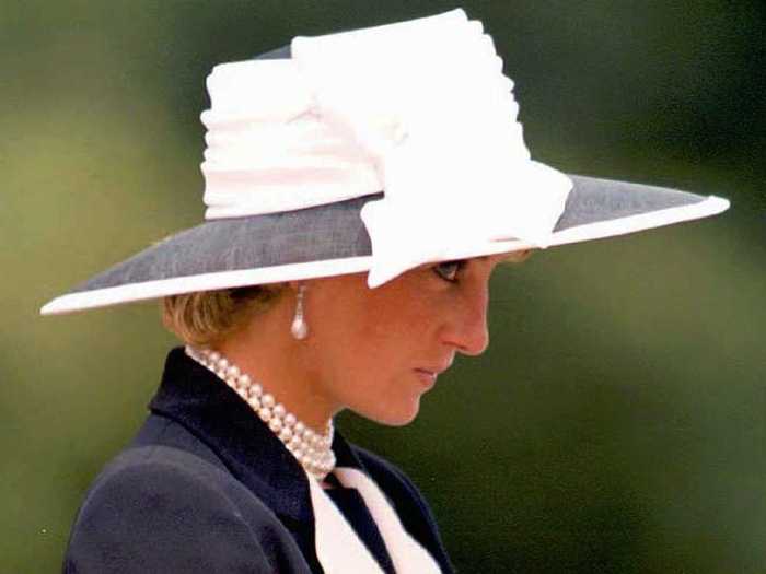
[[[550,245],[565,245],[650,230],[682,221],[715,215],[726,211],[728,208],[728,200],[710,196],[690,206],[669,208],[562,230],[553,234]],[[439,260],[495,255],[532,247],[534,246],[520,241],[490,242],[472,247],[453,246],[449,253],[445,253],[445,258]],[[193,293],[195,291],[210,291],[216,289],[360,273],[368,271],[370,266],[371,257],[362,256],[143,281],[140,283],[129,283],[126,285],[62,295],[46,304],[40,309],[40,314],[61,315],[89,308],[152,300],[166,295]]]

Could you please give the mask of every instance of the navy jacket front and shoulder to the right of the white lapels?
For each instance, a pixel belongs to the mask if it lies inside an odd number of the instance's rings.
[[[350,447],[388,497],[405,529],[431,552],[443,572],[453,572],[433,513],[415,483],[402,469],[380,455],[356,445]]]

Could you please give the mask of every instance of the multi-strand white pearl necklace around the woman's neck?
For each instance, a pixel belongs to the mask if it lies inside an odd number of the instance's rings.
[[[305,471],[317,481],[321,482],[333,471],[335,453],[332,446],[335,429],[332,419],[327,422],[325,432],[318,434],[288,412],[281,402],[277,402],[274,395],[264,393],[258,383],[221,353],[186,345],[186,354],[234,389],[271,429]]]

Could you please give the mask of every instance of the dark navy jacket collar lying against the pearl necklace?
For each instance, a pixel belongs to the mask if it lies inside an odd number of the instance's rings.
[[[202,441],[276,514],[313,524],[309,479],[301,466],[249,406],[183,348],[167,355],[162,383],[149,408]],[[364,470],[337,432],[333,450],[337,466]]]

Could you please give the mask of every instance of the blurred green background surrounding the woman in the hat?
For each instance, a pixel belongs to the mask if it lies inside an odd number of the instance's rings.
[[[500,270],[484,356],[408,427],[341,427],[419,484],[463,572],[766,572],[766,4],[463,5],[537,159],[732,209]],[[59,570],[174,344],[152,304],[37,309],[201,220],[210,68],[453,7],[2,1],[1,573]]]

